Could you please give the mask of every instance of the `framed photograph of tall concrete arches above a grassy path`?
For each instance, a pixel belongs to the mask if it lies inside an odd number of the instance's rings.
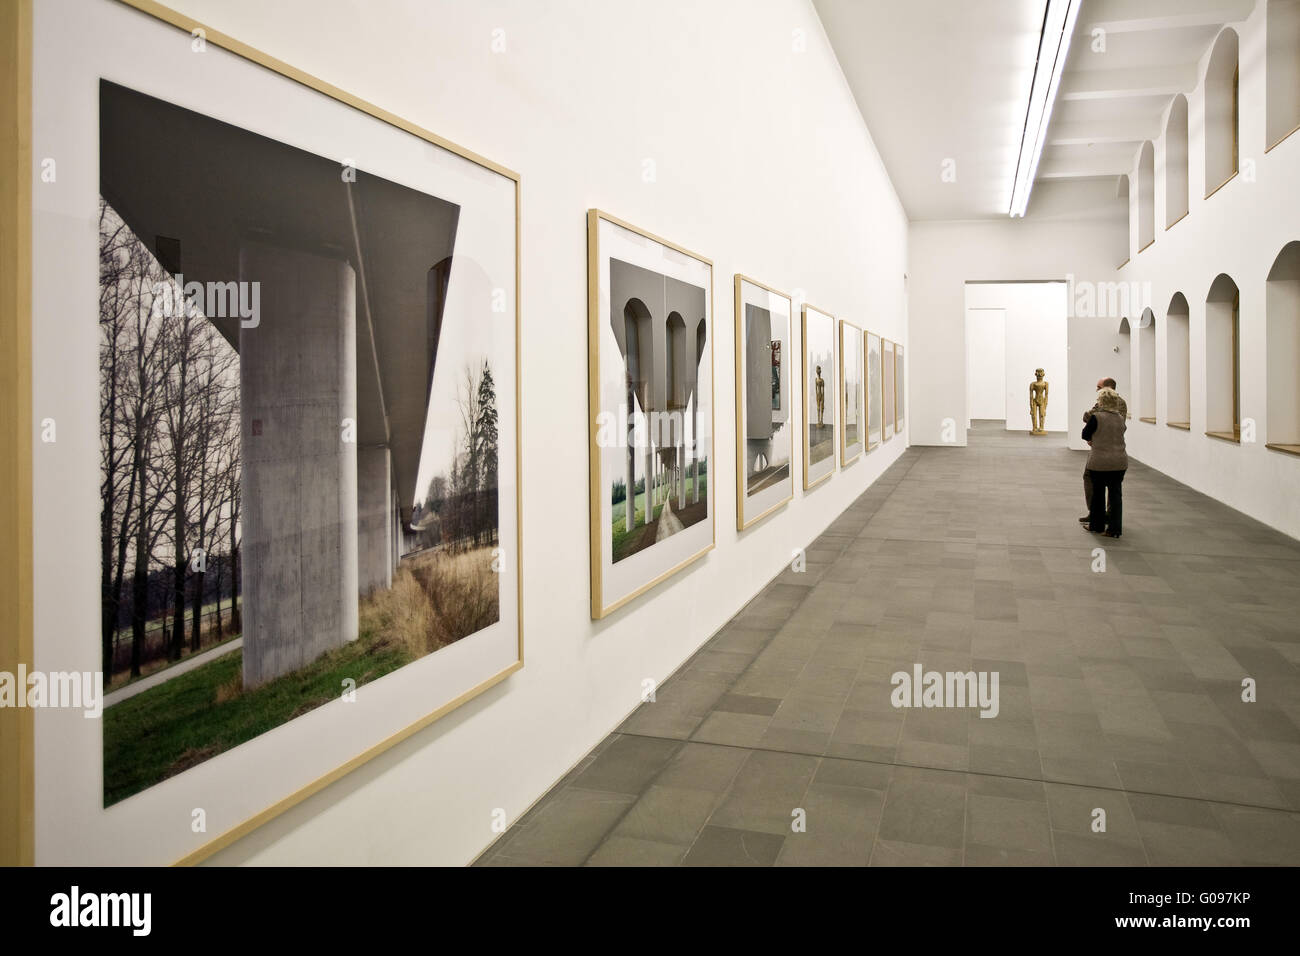
[[[592,617],[714,546],[714,265],[588,212]]]

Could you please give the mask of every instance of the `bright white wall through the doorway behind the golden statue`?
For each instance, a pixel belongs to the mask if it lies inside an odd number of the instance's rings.
[[[1067,397],[1070,376],[1067,368],[1065,282],[967,282],[966,284],[966,349],[967,375],[972,381],[970,401],[972,407],[994,407],[992,397],[982,394],[988,388],[1001,390],[1002,415],[1011,432],[1034,428],[1030,418],[1030,382],[1041,368],[1048,382],[1046,431],[1063,432],[1069,427]],[[1002,338],[998,342],[976,341],[972,312],[1002,312]],[[979,321],[976,319],[976,321]],[[984,329],[984,334],[993,329]],[[1001,358],[991,352],[1001,350]],[[1001,368],[1001,381],[984,376],[980,363]],[[987,418],[974,411],[968,418]]]

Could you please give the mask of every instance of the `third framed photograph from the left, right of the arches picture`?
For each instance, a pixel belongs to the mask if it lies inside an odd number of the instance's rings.
[[[736,529],[794,497],[790,298],[736,276]]]

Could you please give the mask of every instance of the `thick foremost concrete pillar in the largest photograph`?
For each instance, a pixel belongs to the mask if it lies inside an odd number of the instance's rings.
[[[250,688],[358,635],[356,277],[346,261],[247,243],[239,278],[261,297],[239,330]]]

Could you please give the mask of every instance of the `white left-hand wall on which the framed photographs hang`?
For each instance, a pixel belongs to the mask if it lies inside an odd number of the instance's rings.
[[[904,451],[907,428],[734,529],[732,274],[910,346],[906,217],[809,0],[172,5],[521,176],[525,666],[212,857],[468,862]],[[590,207],[712,259],[719,450],[716,548],[598,623]]]

